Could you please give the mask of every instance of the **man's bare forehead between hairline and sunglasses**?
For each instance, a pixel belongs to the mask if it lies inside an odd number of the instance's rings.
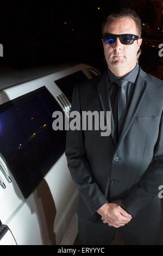
[[[104,27],[104,33],[111,34],[136,34],[137,29],[135,21],[130,17],[123,17],[108,21]]]

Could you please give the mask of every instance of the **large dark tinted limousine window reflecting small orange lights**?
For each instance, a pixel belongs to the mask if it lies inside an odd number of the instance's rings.
[[[52,128],[57,110],[46,87],[0,106],[0,152],[24,198],[65,151],[66,131]]]

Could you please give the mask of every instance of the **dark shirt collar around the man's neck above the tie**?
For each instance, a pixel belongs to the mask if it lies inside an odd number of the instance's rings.
[[[131,83],[135,83],[135,80],[136,80],[136,77],[137,77],[137,74],[139,72],[139,66],[136,64],[135,65],[135,68],[133,70],[131,70],[129,72],[129,74],[127,74],[126,76],[122,77],[122,79],[128,81],[128,82],[131,82]],[[118,79],[121,79],[119,78],[118,76],[115,76],[111,71],[110,69],[108,68],[108,78],[109,78],[109,83],[112,83]]]

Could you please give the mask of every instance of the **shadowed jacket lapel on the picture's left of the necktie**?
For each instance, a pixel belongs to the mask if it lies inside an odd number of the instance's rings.
[[[100,102],[102,111],[104,111],[105,122],[106,122],[106,111],[111,111],[111,134],[110,134],[110,136],[116,146],[116,138],[115,138],[115,133],[114,133],[114,119],[113,119],[111,103],[110,103],[110,99],[109,99],[109,86],[108,86],[107,72],[105,71],[98,78],[99,79],[97,81],[96,88],[97,88],[99,102]]]

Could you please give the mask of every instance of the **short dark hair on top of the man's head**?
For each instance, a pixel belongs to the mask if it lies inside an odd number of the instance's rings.
[[[102,33],[104,33],[104,27],[106,22],[112,21],[115,19],[122,19],[123,17],[130,17],[131,19],[134,20],[136,28],[137,28],[137,33],[139,37],[141,37],[141,19],[139,15],[135,13],[134,10],[131,10],[130,8],[121,8],[119,11],[114,11],[114,13],[109,14],[108,17],[104,20],[102,23]]]

